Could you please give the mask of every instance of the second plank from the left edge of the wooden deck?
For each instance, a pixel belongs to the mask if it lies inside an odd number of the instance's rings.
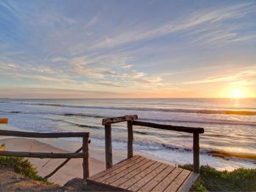
[[[115,169],[114,171],[112,172],[108,172],[107,174],[105,174],[104,176],[101,176],[97,179],[94,179],[94,181],[96,182],[102,182],[112,176],[115,176],[116,174],[118,174],[119,172],[122,172],[124,171],[125,169],[128,169],[134,165],[138,165],[138,163],[142,162],[143,160],[145,160],[146,158],[145,157],[140,157],[140,158],[137,158],[136,160],[133,160],[132,162],[130,162],[129,164],[127,165],[124,165],[124,166],[121,166],[120,168],[118,169]]]

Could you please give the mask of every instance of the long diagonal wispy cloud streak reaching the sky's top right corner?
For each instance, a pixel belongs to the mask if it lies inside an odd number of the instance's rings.
[[[180,32],[183,30],[193,29],[194,27],[202,27],[203,29],[207,28],[209,25],[215,25],[226,20],[234,20],[236,18],[241,18],[248,13],[255,12],[256,5],[253,2],[246,2],[237,5],[232,5],[230,7],[215,9],[200,10],[199,12],[194,12],[185,18],[179,18],[176,21],[171,21],[171,23],[165,23],[158,27],[144,27],[140,26],[134,27],[133,30],[128,32],[123,32],[122,34],[112,35],[105,38],[104,40],[99,41],[93,46],[93,48],[105,48],[105,47],[114,47],[121,44],[132,43],[135,41],[141,40],[151,40],[154,38],[163,37],[167,34],[172,34],[175,32]],[[204,25],[203,25],[204,24]],[[208,30],[207,30],[208,31]],[[220,32],[219,32],[220,33]],[[214,32],[215,36],[212,37],[211,41],[217,39],[218,31]],[[235,33],[226,33],[223,34],[222,38],[233,37],[235,39]],[[237,35],[238,38],[241,36]],[[205,37],[206,38],[206,37]]]

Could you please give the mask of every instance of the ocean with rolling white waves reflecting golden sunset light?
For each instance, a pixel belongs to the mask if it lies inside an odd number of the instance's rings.
[[[256,168],[256,98],[244,99],[0,99],[0,117],[33,132],[91,133],[104,146],[102,118],[138,115],[141,121],[203,127],[200,163],[219,170]],[[171,162],[193,163],[191,133],[133,127],[133,150]],[[127,124],[112,126],[112,147],[127,149]],[[66,138],[81,142],[79,138]]]

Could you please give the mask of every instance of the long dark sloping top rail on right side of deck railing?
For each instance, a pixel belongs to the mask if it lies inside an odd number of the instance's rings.
[[[143,126],[143,127],[152,127],[156,129],[165,129],[165,130],[175,130],[179,132],[187,132],[187,133],[204,133],[204,128],[200,127],[183,127],[183,126],[171,126],[157,123],[149,123],[143,121],[132,121],[134,126]]]

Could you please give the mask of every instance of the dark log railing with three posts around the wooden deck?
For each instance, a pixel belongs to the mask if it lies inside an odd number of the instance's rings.
[[[105,126],[105,163],[106,168],[113,166],[112,161],[112,135],[111,124],[127,121],[127,158],[133,157],[133,126],[152,127],[155,129],[174,130],[178,132],[193,133],[193,168],[194,172],[199,173],[199,134],[204,133],[204,128],[171,126],[164,124],[135,121],[137,115],[126,115],[116,118],[102,119],[102,125]]]

